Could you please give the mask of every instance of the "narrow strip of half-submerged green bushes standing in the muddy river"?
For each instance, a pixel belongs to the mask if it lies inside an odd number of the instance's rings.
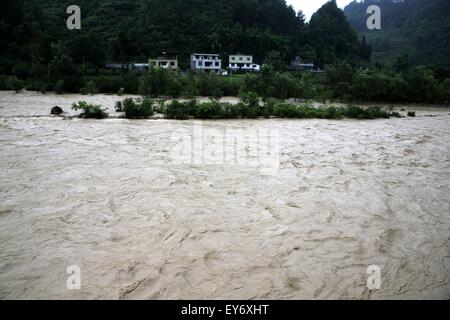
[[[291,119],[378,119],[401,117],[397,112],[389,112],[381,107],[362,108],[348,105],[345,107],[314,107],[309,103],[291,104],[273,98],[262,101],[254,92],[244,93],[237,104],[221,102],[211,97],[209,101],[156,100],[150,98],[126,98],[115,105],[116,112],[126,119],[151,119],[155,113],[165,119],[218,120],[218,119],[256,119],[256,118],[291,118]],[[81,118],[104,119],[108,114],[101,106],[80,101],[73,105],[74,110],[82,110]],[[415,114],[414,114],[415,115]],[[408,113],[408,116],[414,116]]]

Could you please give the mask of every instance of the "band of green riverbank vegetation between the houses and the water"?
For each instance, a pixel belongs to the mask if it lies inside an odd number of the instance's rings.
[[[140,94],[147,97],[194,98],[197,96],[239,96],[255,92],[263,100],[313,99],[343,102],[396,102],[433,103],[450,102],[450,78],[436,74],[425,67],[402,67],[401,59],[396,65],[384,68],[357,69],[348,62],[330,65],[323,74],[277,71],[265,66],[260,74],[218,76],[208,73],[188,73],[155,69],[148,74],[132,71],[123,75],[105,74],[88,76],[81,81],[84,94],[109,93],[120,95]],[[84,82],[85,81],[85,82]],[[55,91],[64,92],[64,85],[56,83]],[[45,92],[32,81],[17,77],[0,77],[0,89],[37,90]],[[78,92],[76,88],[69,92]]]

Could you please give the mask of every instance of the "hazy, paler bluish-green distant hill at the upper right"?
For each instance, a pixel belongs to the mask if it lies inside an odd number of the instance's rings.
[[[381,8],[381,30],[366,27],[371,4]],[[373,62],[392,62],[408,54],[413,64],[450,69],[450,1],[354,1],[344,12],[372,46]]]

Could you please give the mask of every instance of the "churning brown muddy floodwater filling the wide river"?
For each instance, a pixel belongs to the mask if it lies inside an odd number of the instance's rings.
[[[277,130],[270,175],[174,159],[192,121],[48,116],[121,99],[0,92],[0,298],[450,298],[449,109],[201,122]]]

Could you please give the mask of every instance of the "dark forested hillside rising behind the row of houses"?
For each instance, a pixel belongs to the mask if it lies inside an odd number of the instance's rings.
[[[193,52],[270,52],[288,62],[304,55],[318,64],[360,57],[356,34],[334,2],[311,22],[284,0],[79,0],[82,29],[66,28],[70,0],[3,0],[0,72],[18,61],[49,63],[51,43],[62,42],[76,64],[140,61],[161,52],[188,66]],[[330,39],[335,39],[330,41]],[[340,46],[336,42],[341,42]]]

